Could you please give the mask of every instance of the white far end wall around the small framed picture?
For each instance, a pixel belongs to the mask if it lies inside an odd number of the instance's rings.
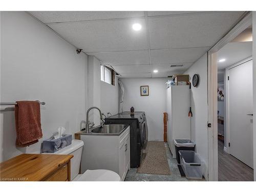
[[[166,111],[167,78],[121,78],[124,87],[123,111],[144,111],[148,140],[163,141],[163,113]],[[149,86],[150,95],[140,96],[140,86]]]

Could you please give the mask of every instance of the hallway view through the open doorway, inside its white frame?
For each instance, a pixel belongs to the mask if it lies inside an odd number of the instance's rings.
[[[253,181],[251,56],[252,41],[217,52],[219,181]]]

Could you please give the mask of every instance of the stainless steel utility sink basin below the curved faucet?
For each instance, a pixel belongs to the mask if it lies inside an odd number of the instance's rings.
[[[91,130],[91,133],[120,135],[128,126],[124,124],[107,124],[95,127]]]

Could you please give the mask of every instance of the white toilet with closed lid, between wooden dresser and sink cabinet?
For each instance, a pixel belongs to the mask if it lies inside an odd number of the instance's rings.
[[[74,157],[71,159],[71,181],[121,181],[117,173],[106,169],[88,169],[83,174],[78,174],[83,145],[83,141],[74,139],[70,145],[55,153],[43,154],[73,155]]]

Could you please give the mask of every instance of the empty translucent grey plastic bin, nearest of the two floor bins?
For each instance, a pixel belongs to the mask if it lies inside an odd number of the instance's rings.
[[[194,151],[179,151],[181,167],[187,179],[203,178],[203,163]]]

